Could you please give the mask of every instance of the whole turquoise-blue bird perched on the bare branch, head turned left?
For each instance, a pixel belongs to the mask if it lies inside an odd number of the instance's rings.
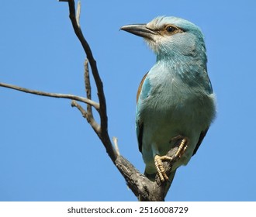
[[[138,88],[136,129],[145,175],[168,181],[196,153],[216,113],[204,36],[192,22],[173,16],[121,29],[143,37],[157,56]],[[162,162],[171,160],[166,153],[175,146],[178,160],[168,177]]]

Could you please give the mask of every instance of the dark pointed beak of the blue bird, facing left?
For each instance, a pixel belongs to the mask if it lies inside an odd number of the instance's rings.
[[[146,24],[126,25],[122,26],[120,29],[149,40],[154,40],[154,35],[157,35],[157,33],[154,32],[154,30],[149,29]]]

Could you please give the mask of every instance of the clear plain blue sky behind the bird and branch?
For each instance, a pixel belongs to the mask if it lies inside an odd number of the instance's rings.
[[[255,201],[256,2],[81,4],[81,28],[106,91],[109,135],[119,138],[121,154],[142,172],[135,98],[155,57],[141,38],[119,27],[149,22],[157,15],[175,15],[201,27],[218,114],[198,153],[178,169],[166,200]],[[85,95],[85,54],[71,27],[67,3],[3,1],[0,27],[1,82]],[[0,88],[0,99],[0,201],[136,201],[70,100],[5,88]]]

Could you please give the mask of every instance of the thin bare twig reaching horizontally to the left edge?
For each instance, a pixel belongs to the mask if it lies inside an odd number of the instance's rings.
[[[86,104],[92,105],[96,110],[99,111],[99,103],[94,102],[91,99],[83,98],[77,95],[66,95],[66,94],[49,93],[44,91],[36,91],[28,88],[22,88],[13,84],[5,84],[5,83],[0,83],[0,87],[10,88],[16,91],[22,91],[22,92],[26,92],[28,94],[33,94],[33,95],[43,95],[43,96],[54,97],[54,98],[69,98],[71,100],[77,100],[79,102],[85,102]]]

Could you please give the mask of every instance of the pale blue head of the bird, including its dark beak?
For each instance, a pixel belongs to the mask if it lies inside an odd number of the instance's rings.
[[[185,19],[159,16],[147,24],[122,26],[121,30],[143,37],[160,58],[177,55],[206,58],[201,30]]]

